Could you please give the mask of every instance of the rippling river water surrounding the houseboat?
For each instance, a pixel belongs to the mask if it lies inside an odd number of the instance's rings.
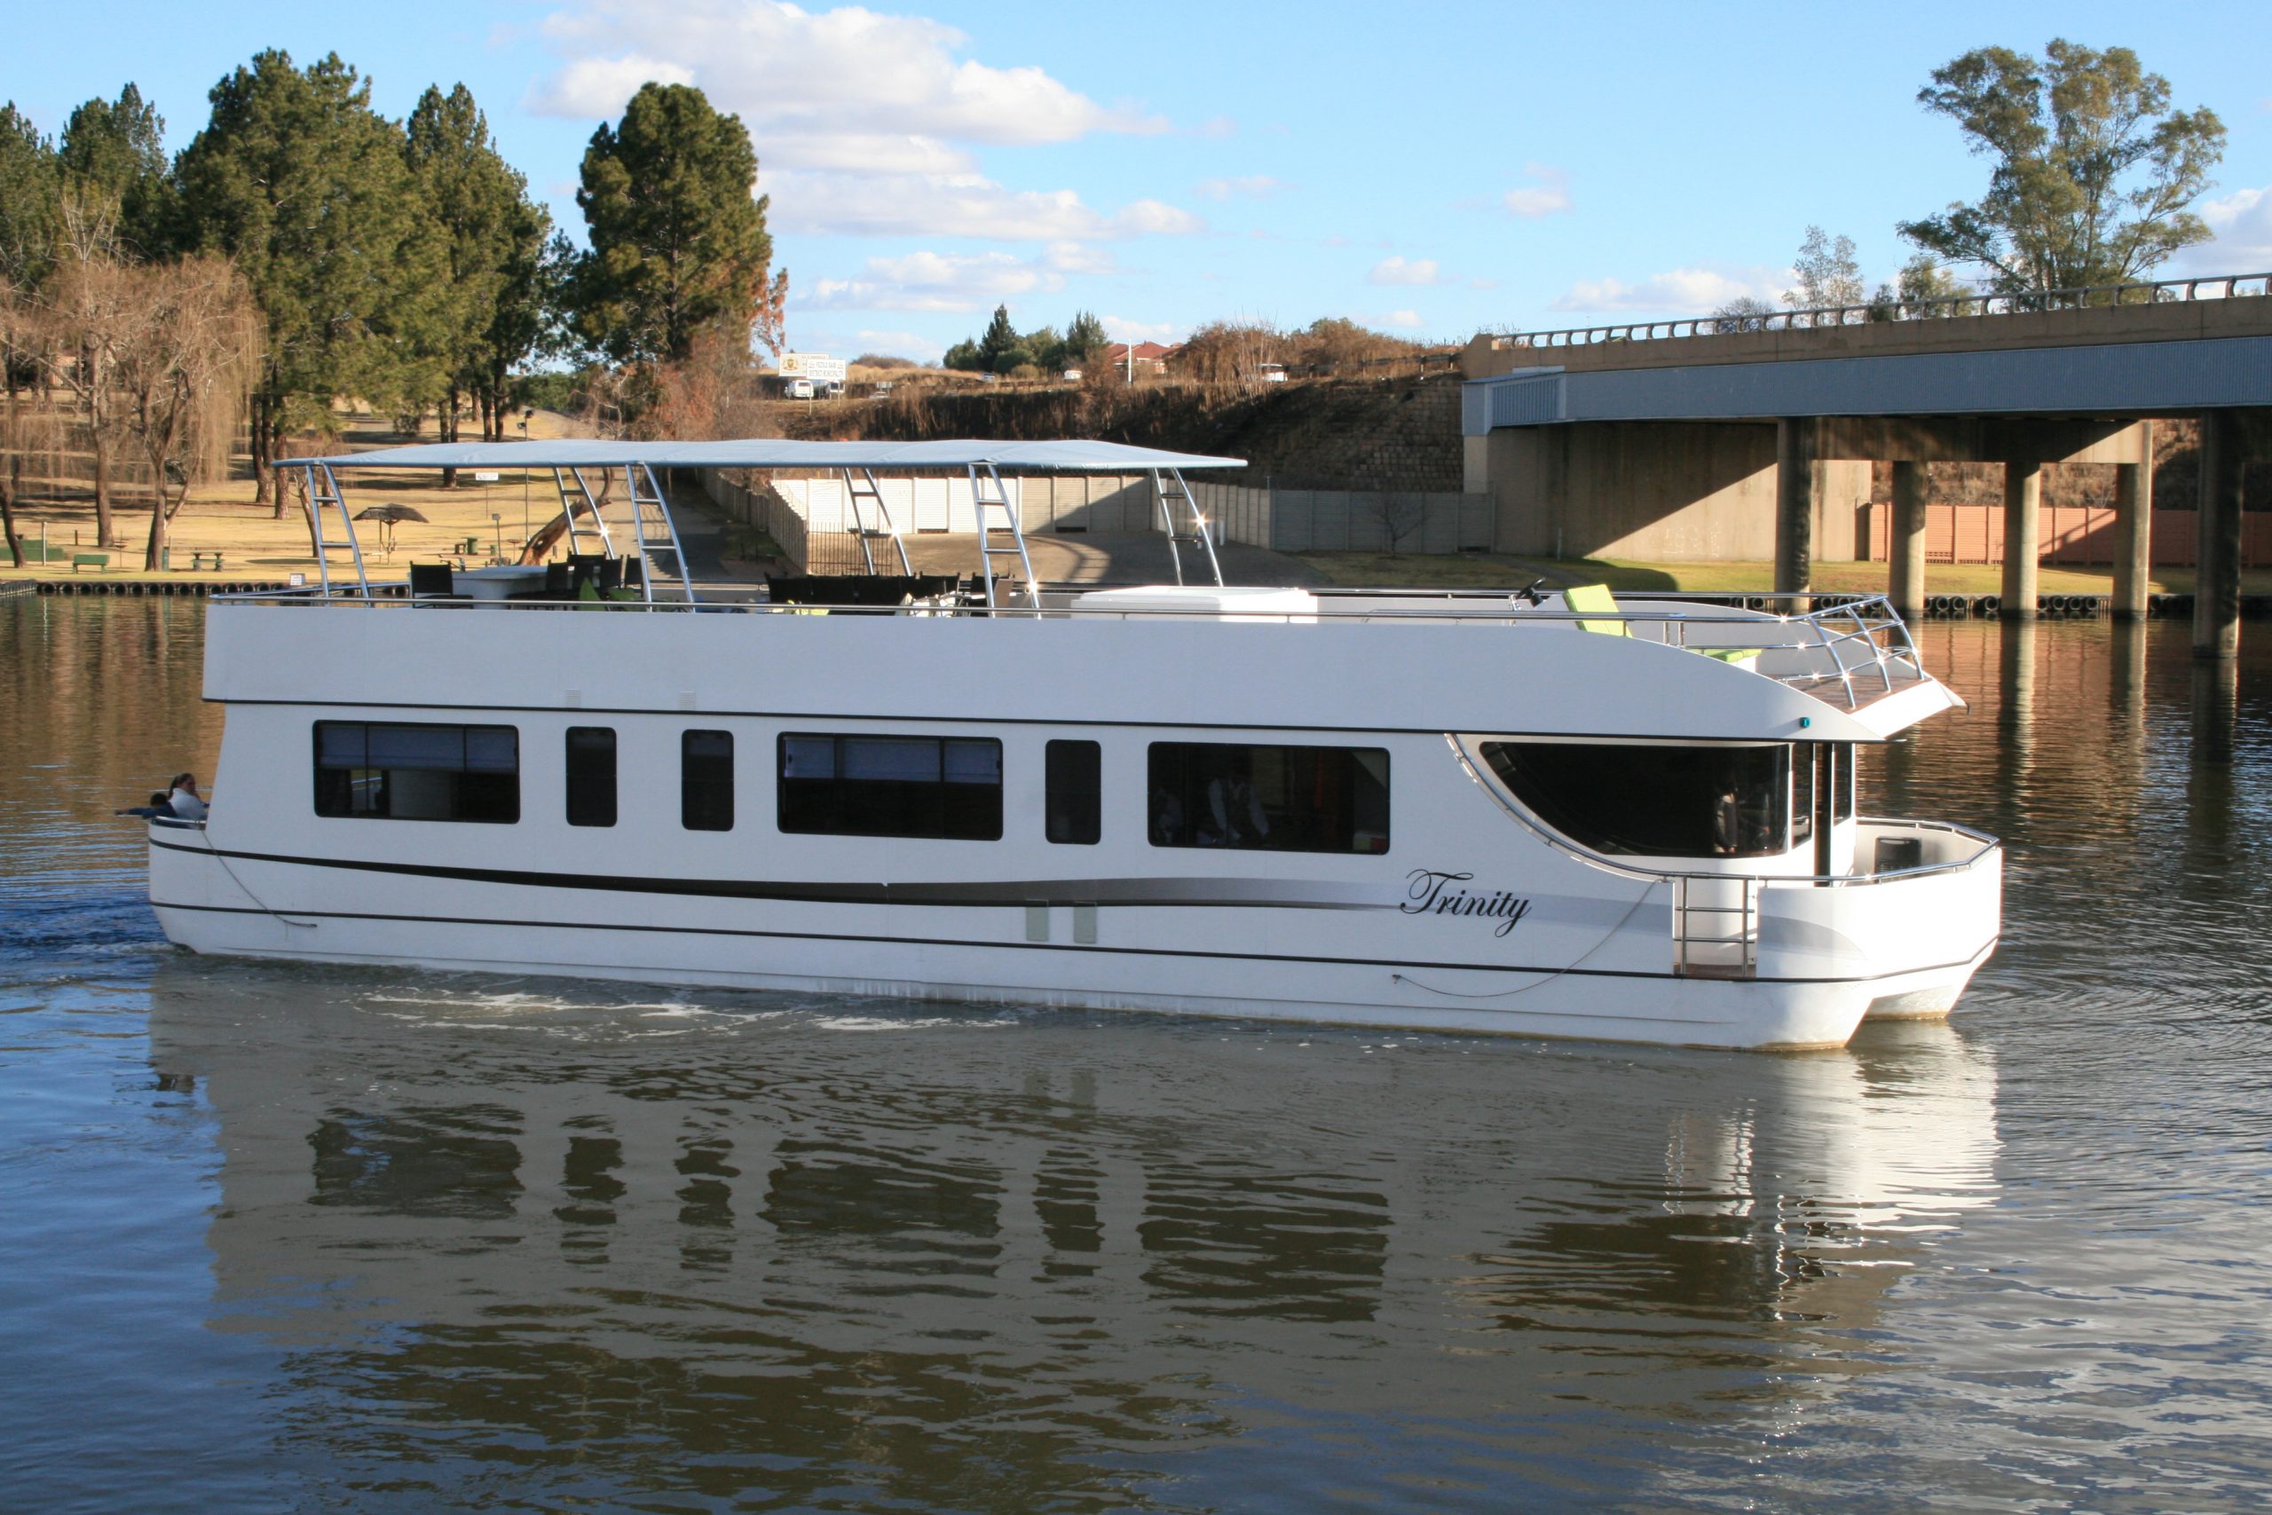
[[[200,629],[0,604],[5,1508],[2272,1492],[2272,659],[1929,627],[2004,947],[1743,1056],[184,959]]]

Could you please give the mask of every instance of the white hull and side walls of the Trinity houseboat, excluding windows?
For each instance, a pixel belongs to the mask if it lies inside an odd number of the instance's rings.
[[[1463,625],[216,604],[216,804],[202,825],[152,825],[150,897],[168,938],[204,954],[1429,1031],[1836,1047],[1868,1015],[1956,1002],[1997,940],[1990,838],[1843,815],[1834,879],[1806,877],[1815,854],[1793,849],[1752,872],[1693,863],[1720,872],[1684,884],[1559,845],[1479,761],[1490,734],[1768,731],[1799,738],[1804,761],[1809,740],[1874,731],[1679,647],[1513,636],[1531,641]],[[357,670],[352,697],[325,668]],[[1588,706],[1606,684],[1624,697]],[[511,731],[511,818],[350,813],[370,779],[348,777],[327,802],[327,731],[382,727]],[[609,731],[609,825],[570,820],[561,752],[591,729]],[[722,825],[691,825],[688,734],[725,738]],[[813,734],[988,745],[995,836],[793,831],[788,754],[827,740]],[[1045,827],[1052,743],[1097,752],[1091,840]],[[1161,845],[1147,754],[1163,743],[1361,752],[1393,820],[1340,852]],[[1883,838],[1924,872],[1874,877],[1863,843]],[[1745,922],[1722,956],[1695,949],[1684,915],[1720,909],[1697,906],[1713,888]]]

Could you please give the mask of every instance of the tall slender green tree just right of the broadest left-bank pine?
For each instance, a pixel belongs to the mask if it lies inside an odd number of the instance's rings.
[[[459,84],[429,86],[404,123],[404,164],[443,238],[448,282],[434,302],[441,338],[434,404],[441,438],[459,438],[470,402],[491,436],[509,370],[536,345],[538,259],[550,216],[495,148],[488,120]]]

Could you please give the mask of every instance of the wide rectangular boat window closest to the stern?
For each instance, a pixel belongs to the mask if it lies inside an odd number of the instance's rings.
[[[318,720],[316,813],[520,820],[520,731]]]

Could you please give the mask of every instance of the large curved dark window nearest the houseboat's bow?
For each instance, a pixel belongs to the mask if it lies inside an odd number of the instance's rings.
[[[1484,761],[1538,820],[1595,852],[1790,852],[1788,745],[1484,743]]]

